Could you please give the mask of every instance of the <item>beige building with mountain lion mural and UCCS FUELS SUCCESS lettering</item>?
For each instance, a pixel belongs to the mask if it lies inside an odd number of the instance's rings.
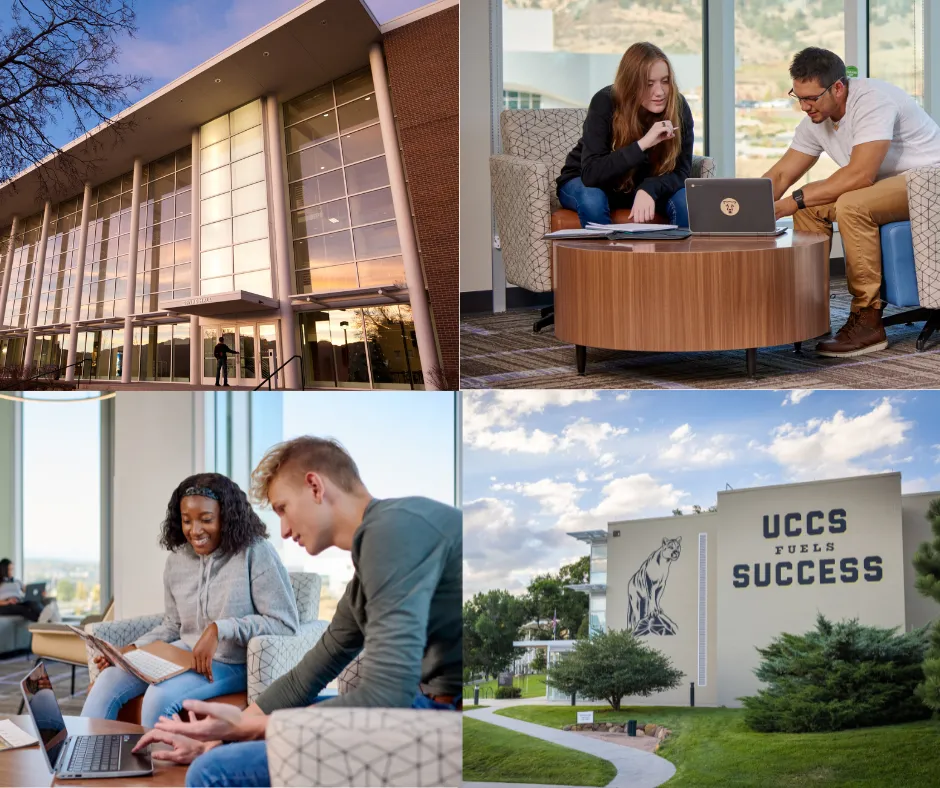
[[[718,493],[717,511],[570,534],[591,549],[591,630],[630,629],[685,674],[631,705],[740,706],[762,648],[830,620],[909,631],[940,619],[911,565],[940,492],[886,473]],[[542,644],[544,645],[544,643]],[[555,646],[556,644],[551,644]],[[553,649],[560,652],[559,649]]]

